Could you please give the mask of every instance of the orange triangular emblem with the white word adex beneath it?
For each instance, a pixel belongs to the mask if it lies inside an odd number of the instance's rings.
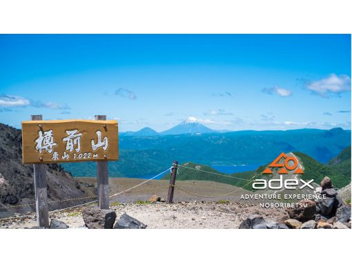
[[[293,172],[293,174],[304,174],[304,171],[302,170],[302,167],[296,157],[288,157],[284,152],[282,152],[273,162],[271,162],[270,165],[268,165],[268,168],[266,168],[262,174],[273,174],[273,168],[280,168],[277,171],[277,174],[280,174],[280,179],[270,179],[268,181],[265,179],[255,179],[255,182],[252,185],[253,189],[270,188],[272,190],[280,190],[284,188],[294,190],[301,182],[302,185],[300,186],[300,189],[309,187],[313,190],[313,186],[311,185],[313,179],[308,182],[302,179],[286,179],[284,181],[282,175],[289,174],[289,172]]]

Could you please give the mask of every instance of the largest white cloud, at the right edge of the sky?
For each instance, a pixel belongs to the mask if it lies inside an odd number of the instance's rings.
[[[313,94],[329,98],[330,94],[340,94],[351,90],[351,78],[346,74],[337,76],[330,74],[329,77],[306,83],[306,88]]]

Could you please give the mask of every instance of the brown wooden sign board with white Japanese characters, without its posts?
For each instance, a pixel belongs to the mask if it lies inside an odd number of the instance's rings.
[[[23,163],[107,161],[118,158],[117,121],[22,122]]]

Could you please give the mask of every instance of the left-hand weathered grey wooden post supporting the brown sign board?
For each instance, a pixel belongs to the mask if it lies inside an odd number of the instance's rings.
[[[41,114],[30,116],[32,121],[43,120]],[[46,166],[33,164],[35,179],[35,206],[37,210],[37,225],[49,228],[48,192],[46,190]]]

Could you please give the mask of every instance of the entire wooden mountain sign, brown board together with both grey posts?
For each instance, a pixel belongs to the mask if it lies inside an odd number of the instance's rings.
[[[119,158],[117,121],[95,119],[43,121],[39,115],[22,122],[22,161],[34,164],[39,226],[49,223],[45,163],[97,161],[99,207],[109,208],[108,161]]]

